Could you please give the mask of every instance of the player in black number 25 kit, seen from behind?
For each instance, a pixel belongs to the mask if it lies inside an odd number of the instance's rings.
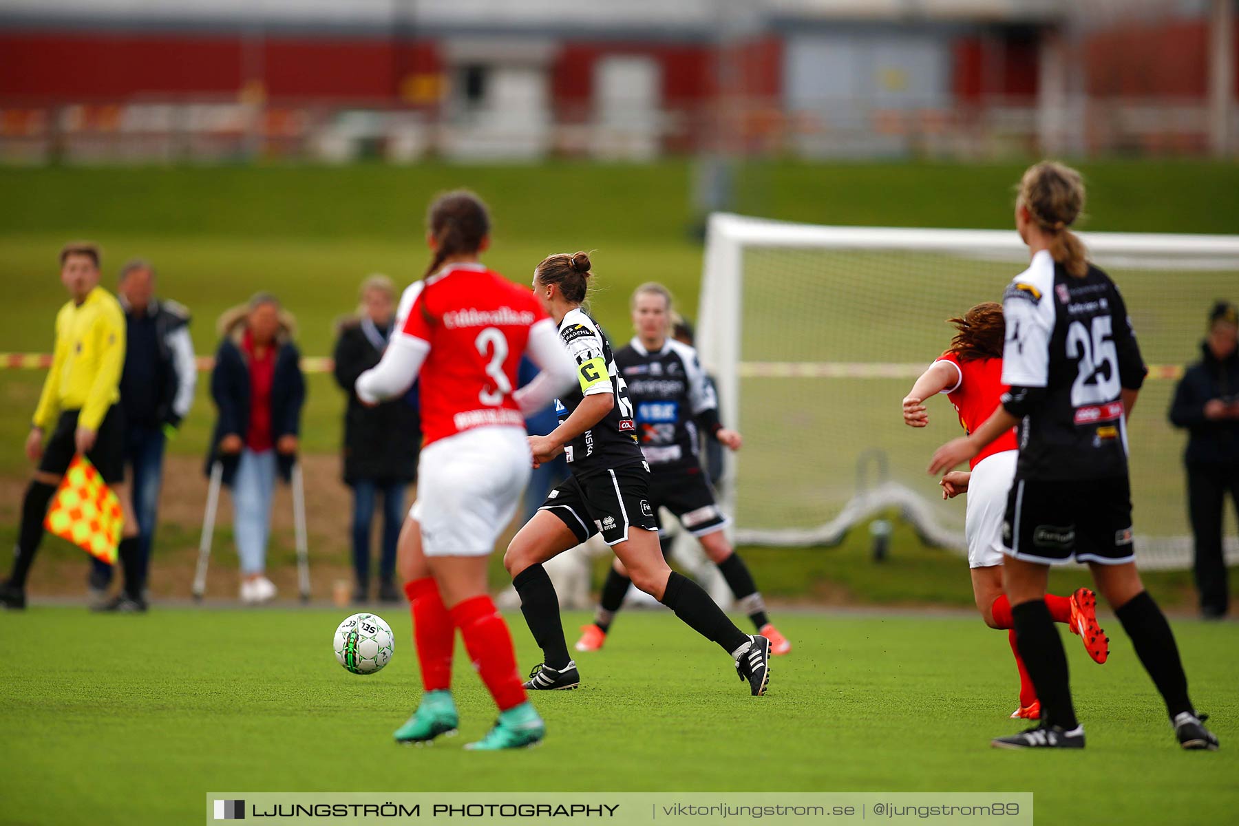
[[[1126,419],[1146,368],[1123,296],[1067,229],[1083,207],[1084,185],[1074,170],[1041,162],[1025,172],[1015,219],[1032,264],[1002,300],[1002,383],[1010,390],[985,424],[938,448],[929,464],[933,474],[949,471],[1020,427],[1002,580],[1020,656],[1041,700],[1041,724],[992,744],[1084,747],[1063,643],[1044,602],[1049,566],[1074,557],[1088,563],[1131,637],[1180,744],[1215,749],[1218,738],[1188,698],[1175,635],[1136,571]]]

